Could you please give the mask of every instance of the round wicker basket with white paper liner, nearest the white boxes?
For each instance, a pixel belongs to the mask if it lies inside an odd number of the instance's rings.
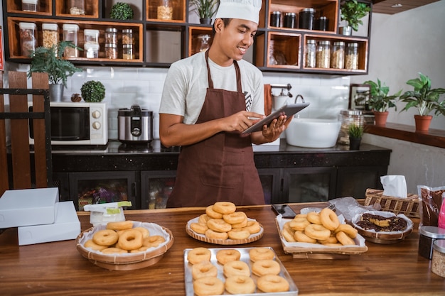
[[[77,236],[76,248],[79,253],[88,259],[91,263],[106,268],[108,270],[135,270],[145,268],[158,263],[163,254],[173,246],[173,234],[169,229],[154,223],[142,223],[134,221],[134,227],[142,226],[149,229],[150,235],[162,235],[166,241],[157,248],[150,248],[140,253],[125,254],[104,254],[100,251],[94,251],[91,248],[85,248],[84,243],[92,238],[95,231],[105,229],[105,225],[99,225],[83,231]]]

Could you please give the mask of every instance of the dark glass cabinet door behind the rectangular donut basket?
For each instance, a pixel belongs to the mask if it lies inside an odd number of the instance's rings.
[[[283,170],[283,202],[325,202],[336,192],[336,168]]]

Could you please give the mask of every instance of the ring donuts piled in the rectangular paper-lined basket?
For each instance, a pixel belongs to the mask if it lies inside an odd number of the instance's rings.
[[[321,243],[325,246],[355,246],[357,229],[341,224],[332,209],[297,214],[284,224],[282,234],[289,243]]]

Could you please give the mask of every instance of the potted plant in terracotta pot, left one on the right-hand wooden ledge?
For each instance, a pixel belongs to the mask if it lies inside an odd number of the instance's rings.
[[[389,113],[388,109],[394,108],[395,110],[397,110],[395,101],[398,97],[400,97],[402,89],[400,89],[400,91],[396,94],[392,94],[391,96],[389,96],[388,92],[390,92],[390,87],[387,87],[385,84],[382,85],[382,82],[380,82],[378,78],[377,82],[368,80],[364,83],[370,86],[370,99],[368,101],[368,104],[370,106],[370,109],[374,113],[375,125],[385,126]]]

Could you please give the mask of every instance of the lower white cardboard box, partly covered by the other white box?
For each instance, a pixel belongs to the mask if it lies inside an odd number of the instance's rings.
[[[57,202],[55,212],[54,224],[18,227],[18,246],[75,239],[80,234],[80,221],[73,201]]]

